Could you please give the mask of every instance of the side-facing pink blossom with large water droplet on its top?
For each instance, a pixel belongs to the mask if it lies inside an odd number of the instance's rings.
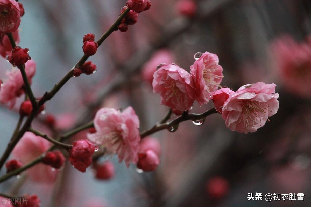
[[[210,92],[216,91],[222,81],[222,67],[218,63],[216,54],[204,52],[190,67],[200,105],[208,103]]]

